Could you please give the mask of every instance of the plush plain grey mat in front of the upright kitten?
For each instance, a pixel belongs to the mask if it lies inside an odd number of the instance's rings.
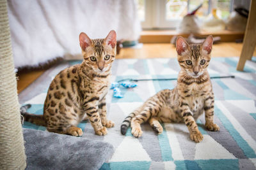
[[[23,129],[26,169],[99,169],[113,155],[102,141]]]

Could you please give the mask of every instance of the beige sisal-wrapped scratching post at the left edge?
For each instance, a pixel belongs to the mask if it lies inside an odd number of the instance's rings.
[[[6,0],[0,0],[0,169],[25,169]]]

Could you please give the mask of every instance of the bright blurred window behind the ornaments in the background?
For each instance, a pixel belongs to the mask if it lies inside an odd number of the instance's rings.
[[[213,8],[217,16],[226,20],[232,11],[234,0],[134,0],[138,8],[138,16],[144,29],[174,29],[182,17],[202,7],[196,16],[204,20]]]

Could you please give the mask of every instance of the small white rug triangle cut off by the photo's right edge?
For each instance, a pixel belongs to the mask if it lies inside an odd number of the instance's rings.
[[[228,103],[236,106],[237,108],[240,108],[241,110],[245,111],[247,113],[256,113],[255,103],[253,100],[228,100]]]

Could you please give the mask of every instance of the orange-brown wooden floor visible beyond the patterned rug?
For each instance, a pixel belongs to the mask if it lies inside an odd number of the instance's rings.
[[[218,43],[213,45],[212,57],[234,57],[241,53],[242,43]],[[253,56],[256,55],[256,51]],[[148,43],[141,48],[122,48],[116,59],[150,59],[150,58],[175,58],[175,47],[170,43]],[[24,90],[30,83],[36,80],[45,70],[17,73],[18,92]]]

